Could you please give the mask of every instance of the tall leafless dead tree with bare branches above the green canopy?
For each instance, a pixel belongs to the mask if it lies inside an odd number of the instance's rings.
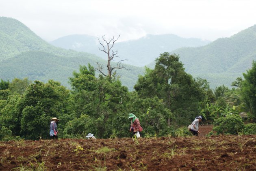
[[[102,40],[106,43],[105,45],[104,45],[104,43],[102,43],[100,41],[100,38],[98,37],[100,45],[102,46],[102,48],[99,47],[99,50],[105,52],[106,54],[108,54],[108,64],[107,64],[108,74],[104,74],[104,72],[103,72],[103,68],[104,67],[99,62],[96,62],[96,64],[98,65],[98,68],[96,68],[96,69],[98,71],[100,71],[100,73],[102,73],[102,75],[104,75],[104,76],[108,75],[109,77],[111,77],[112,76],[112,72],[113,72],[114,69],[122,69],[122,68],[126,69],[126,67],[123,66],[123,64],[121,63],[122,61],[125,61],[125,60],[120,60],[119,62],[117,62],[117,66],[115,66],[115,67],[111,66],[111,61],[113,61],[114,58],[119,58],[119,56],[117,56],[117,51],[113,51],[112,48],[114,46],[114,43],[120,37],[120,35],[117,37],[117,39],[114,39],[114,37],[113,37],[109,41],[107,41],[104,38],[104,36],[102,36]]]

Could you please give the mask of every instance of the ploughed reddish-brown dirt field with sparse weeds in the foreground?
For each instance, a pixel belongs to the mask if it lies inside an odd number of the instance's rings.
[[[200,130],[204,134],[202,127]],[[227,135],[0,142],[0,170],[255,171],[255,138]],[[75,152],[77,145],[83,150]]]

